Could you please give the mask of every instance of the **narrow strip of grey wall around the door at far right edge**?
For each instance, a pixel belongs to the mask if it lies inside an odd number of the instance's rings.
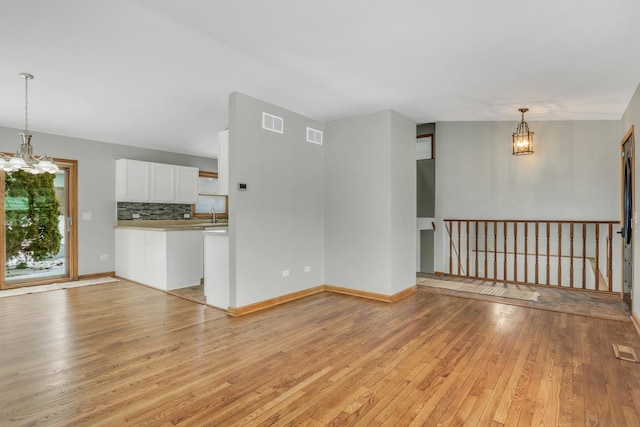
[[[640,184],[638,181],[638,177],[640,176],[640,159],[638,159],[638,153],[640,153],[640,147],[638,144],[640,143],[640,138],[638,137],[640,132],[640,85],[636,89],[636,92],[633,94],[629,105],[627,106],[626,111],[622,116],[622,128],[620,129],[618,144],[622,142],[622,138],[627,133],[631,126],[634,127],[634,141],[635,141],[635,181],[634,185],[634,201],[635,201],[635,209],[636,211],[640,207],[640,203],[638,203],[638,197],[640,197]],[[620,184],[618,184],[620,185]],[[637,233],[638,225],[635,225],[633,231],[633,271],[634,271],[634,280],[633,280],[633,313],[636,317],[640,318],[640,249],[638,249],[638,245],[640,244],[640,240],[638,239]]]

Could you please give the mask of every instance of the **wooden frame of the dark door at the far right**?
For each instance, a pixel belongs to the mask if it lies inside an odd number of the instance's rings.
[[[635,221],[637,219],[637,213],[636,213],[636,195],[635,195],[635,187],[636,187],[636,167],[635,167],[635,149],[636,149],[636,144],[635,144],[635,137],[634,137],[634,126],[631,125],[631,128],[627,131],[627,133],[624,135],[624,137],[622,138],[622,141],[620,141],[620,223],[622,224],[622,226],[624,227],[624,223],[625,223],[625,218],[624,218],[624,182],[625,182],[625,156],[624,156],[624,144],[627,142],[627,140],[630,141],[631,143],[631,194],[632,194],[632,203],[631,203],[631,212],[632,212],[632,219],[631,219],[631,277],[629,278],[629,281],[631,283],[631,310],[633,310],[633,288],[634,288],[634,283],[633,283],[633,277],[634,277],[634,263],[635,263]],[[626,230],[625,230],[626,233]],[[625,237],[622,236],[622,239],[620,240],[620,254],[621,254],[621,274],[620,274],[620,299],[624,299],[624,274],[625,274],[625,268],[624,268],[624,245],[625,245]]]

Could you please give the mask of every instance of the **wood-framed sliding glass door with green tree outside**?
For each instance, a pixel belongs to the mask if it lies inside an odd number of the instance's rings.
[[[56,174],[5,172],[0,288],[77,278],[76,162]]]

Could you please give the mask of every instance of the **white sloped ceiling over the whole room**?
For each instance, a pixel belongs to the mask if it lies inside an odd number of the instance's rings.
[[[1,126],[29,72],[31,130],[215,157],[234,91],[320,121],[620,119],[640,1],[3,0],[0,59]]]

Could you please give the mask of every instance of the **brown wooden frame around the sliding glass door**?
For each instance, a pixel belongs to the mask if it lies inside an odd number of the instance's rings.
[[[24,283],[12,283],[7,286],[5,283],[5,261],[4,256],[2,256],[3,260],[0,262],[0,289],[11,289],[16,287],[36,286],[78,280],[78,161],[59,158],[54,158],[53,160],[61,169],[67,170],[67,186],[69,187],[67,189],[67,212],[69,216],[67,217],[68,228],[67,236],[65,236],[65,238],[67,239],[67,242],[70,243],[66,248],[66,250],[68,250],[67,262],[69,263],[69,276],[55,279],[34,280]],[[2,200],[2,203],[0,203],[0,218],[2,218],[3,222],[4,195],[4,171],[0,170],[0,197]],[[4,224],[2,224],[0,227],[0,249],[2,249],[0,255],[5,252],[4,239]]]

